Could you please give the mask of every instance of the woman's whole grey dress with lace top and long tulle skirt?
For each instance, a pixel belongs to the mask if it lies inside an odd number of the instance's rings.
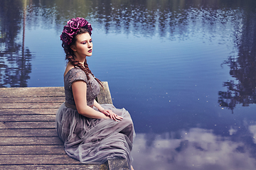
[[[63,103],[56,114],[58,136],[64,143],[65,152],[69,157],[85,164],[103,164],[108,159],[127,159],[132,163],[131,150],[135,137],[134,125],[128,111],[124,108],[114,108],[112,104],[101,105],[112,110],[123,120],[87,118],[70,106],[75,106],[71,85],[74,81],[82,80],[87,84],[87,105],[93,104],[100,92],[100,86],[90,74],[88,80],[85,72],[79,67],[70,69],[64,77],[65,104]],[[97,108],[94,107],[97,111]]]

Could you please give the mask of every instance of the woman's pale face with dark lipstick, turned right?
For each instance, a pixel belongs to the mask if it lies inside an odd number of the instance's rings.
[[[75,45],[71,46],[76,57],[86,57],[92,55],[92,38],[89,33],[77,35]]]

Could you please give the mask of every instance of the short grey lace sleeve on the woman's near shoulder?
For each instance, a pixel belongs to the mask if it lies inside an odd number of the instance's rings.
[[[71,89],[71,85],[74,81],[82,80],[87,83],[87,77],[85,72],[82,71],[80,68],[70,69],[68,74],[68,88]]]

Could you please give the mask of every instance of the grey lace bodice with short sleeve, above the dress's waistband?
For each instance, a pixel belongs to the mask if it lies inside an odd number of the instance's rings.
[[[100,85],[92,76],[92,74],[90,74],[89,77],[90,79],[87,80],[85,72],[83,72],[82,69],[80,69],[79,67],[70,69],[68,73],[65,74],[64,88],[65,88],[66,102],[72,105],[75,105],[71,85],[74,81],[82,80],[82,81],[85,81],[85,83],[87,84],[87,93],[86,93],[87,106],[93,105],[94,99],[97,97],[98,94],[100,94]]]

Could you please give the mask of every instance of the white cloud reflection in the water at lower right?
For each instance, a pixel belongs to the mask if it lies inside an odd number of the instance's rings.
[[[252,147],[255,146],[256,125],[247,127],[247,136],[240,136],[236,141],[232,135],[237,130],[231,127],[229,131],[226,137],[202,128],[162,135],[139,134],[132,152],[134,160],[139,159],[134,161],[134,169],[255,169]],[[247,141],[242,139],[245,137]]]

